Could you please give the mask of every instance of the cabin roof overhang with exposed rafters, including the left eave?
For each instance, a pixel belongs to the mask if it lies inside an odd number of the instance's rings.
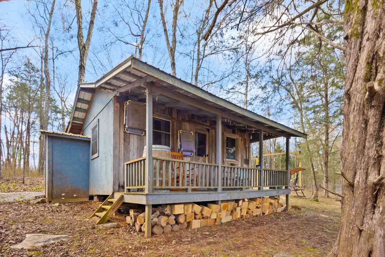
[[[137,101],[145,102],[147,88],[154,92],[156,104],[173,107],[204,119],[216,120],[216,116],[221,115],[223,124],[233,129],[251,132],[252,141],[258,140],[261,129],[264,139],[279,136],[307,137],[300,131],[241,108],[133,56],[124,60],[96,82],[79,86],[67,131],[75,134],[82,132],[82,124],[95,90],[129,94]]]

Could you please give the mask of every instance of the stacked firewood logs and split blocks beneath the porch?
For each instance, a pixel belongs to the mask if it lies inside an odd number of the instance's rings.
[[[178,231],[179,229],[200,228],[218,225],[220,222],[246,219],[251,216],[281,212],[279,197],[244,198],[222,201],[221,205],[208,203],[207,206],[196,203],[162,205],[152,208],[151,232],[155,235]],[[137,232],[146,229],[145,212],[131,209],[126,222],[136,228]]]

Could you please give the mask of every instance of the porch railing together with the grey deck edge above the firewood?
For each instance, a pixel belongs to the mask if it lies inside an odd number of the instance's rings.
[[[167,204],[207,202],[288,195],[289,172],[226,166],[152,157],[154,171],[146,172],[146,157],[124,164],[124,202]],[[151,176],[153,175],[153,176]],[[151,180],[146,180],[148,177]],[[146,192],[146,184],[152,182]],[[178,191],[176,191],[178,190]]]

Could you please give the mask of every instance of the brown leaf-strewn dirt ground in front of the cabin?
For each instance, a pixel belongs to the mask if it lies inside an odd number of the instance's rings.
[[[89,218],[97,208],[93,202],[59,206],[31,205],[28,201],[0,203],[0,255],[272,257],[282,252],[296,257],[325,256],[338,233],[340,203],[335,198],[320,198],[316,203],[291,195],[290,204],[293,208],[289,212],[195,230],[187,228],[146,239],[134,232],[123,216],[112,218],[122,225],[119,228],[96,228],[95,220]],[[73,238],[33,250],[10,248],[27,233],[66,234]]]

